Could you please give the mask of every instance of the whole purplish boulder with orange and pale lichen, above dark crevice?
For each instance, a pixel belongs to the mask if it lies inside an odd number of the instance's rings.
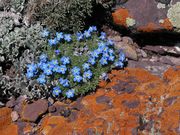
[[[112,13],[114,23],[133,32],[178,32],[180,29],[179,0],[128,0],[117,2],[115,9]]]

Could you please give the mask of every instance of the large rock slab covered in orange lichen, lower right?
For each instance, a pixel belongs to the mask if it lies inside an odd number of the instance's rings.
[[[131,68],[113,70],[109,76],[110,83],[101,82],[105,85],[96,93],[69,104],[67,118],[53,114],[43,118],[38,133],[179,133],[179,66],[167,70],[163,78]]]

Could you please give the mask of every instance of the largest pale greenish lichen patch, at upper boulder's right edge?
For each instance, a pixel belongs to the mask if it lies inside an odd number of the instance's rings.
[[[178,29],[180,28],[180,2],[172,5],[172,7],[168,10],[167,17],[174,27]]]

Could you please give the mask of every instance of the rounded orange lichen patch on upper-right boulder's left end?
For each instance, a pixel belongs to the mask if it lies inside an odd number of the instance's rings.
[[[128,9],[125,8],[117,9],[114,13],[112,13],[112,16],[115,24],[122,25],[125,27],[127,26],[126,19],[128,17],[131,17]]]

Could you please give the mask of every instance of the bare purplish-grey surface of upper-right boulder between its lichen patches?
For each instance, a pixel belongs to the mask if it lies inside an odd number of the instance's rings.
[[[160,29],[159,20],[167,17],[167,9],[159,10],[157,2],[154,0],[128,0],[123,6],[129,10],[133,19],[136,20],[136,27],[146,26],[152,22],[157,25],[157,29]]]

